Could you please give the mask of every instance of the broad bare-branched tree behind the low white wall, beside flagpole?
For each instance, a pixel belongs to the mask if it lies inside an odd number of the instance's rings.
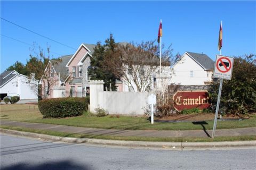
[[[106,69],[132,87],[133,91],[151,90],[154,76],[159,72],[159,48],[154,43],[119,44],[115,53],[106,56]],[[173,58],[169,46],[162,52],[162,66],[170,68]]]

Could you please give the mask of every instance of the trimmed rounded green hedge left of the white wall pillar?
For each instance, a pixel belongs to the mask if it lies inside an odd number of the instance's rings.
[[[38,108],[45,117],[79,116],[88,110],[89,98],[53,98],[38,102]]]

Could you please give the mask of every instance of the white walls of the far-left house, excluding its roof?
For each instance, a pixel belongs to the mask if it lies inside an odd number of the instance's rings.
[[[0,92],[7,94],[7,96],[20,96],[20,100],[37,99],[37,91],[35,90],[37,84],[38,82],[35,80],[33,83],[29,83],[28,78],[20,74],[1,87]]]

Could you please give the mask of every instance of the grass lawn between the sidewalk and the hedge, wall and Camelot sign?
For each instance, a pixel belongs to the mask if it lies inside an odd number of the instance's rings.
[[[35,123],[60,124],[68,126],[81,126],[86,128],[123,129],[123,130],[202,130],[201,124],[192,122],[157,123],[153,125],[147,117],[120,116],[87,117],[81,115],[68,118],[43,118],[37,105],[1,105],[1,120],[23,121]],[[205,121],[206,130],[212,130],[213,121]],[[256,115],[242,121],[218,121],[217,129],[249,128],[256,126]]]

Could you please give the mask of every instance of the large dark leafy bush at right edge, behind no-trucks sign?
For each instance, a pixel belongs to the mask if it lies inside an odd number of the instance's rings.
[[[218,98],[219,79],[213,81],[209,93],[212,109]],[[228,114],[256,112],[256,60],[255,55],[235,57],[231,80],[223,80],[220,111]]]

